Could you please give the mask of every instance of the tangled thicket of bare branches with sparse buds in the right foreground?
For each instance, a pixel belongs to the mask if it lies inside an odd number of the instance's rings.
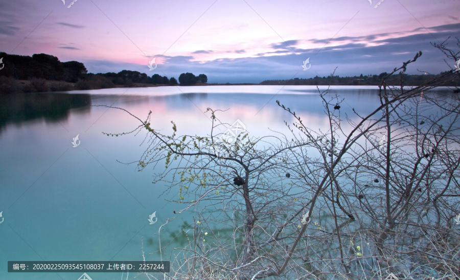
[[[460,213],[460,98],[430,92],[460,74],[406,88],[406,67],[420,55],[382,78],[380,105],[367,116],[341,115],[343,99],[318,89],[325,131],[280,102],[295,120],[286,123],[289,136],[242,130],[230,141],[217,132],[232,128],[219,110],[206,111],[213,121],[206,136],[177,135],[174,122],[164,134],[151,124],[152,112],[145,120],[133,116],[140,121],[133,132],[147,131],[137,167],[155,167],[155,182],[178,190],[175,201],[184,206],[176,214],[196,214],[177,232],[188,243],[168,276],[460,277],[453,222]],[[388,87],[392,75],[400,87]]]

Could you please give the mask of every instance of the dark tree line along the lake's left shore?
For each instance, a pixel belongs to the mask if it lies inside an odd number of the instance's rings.
[[[134,84],[176,85],[176,78],[153,74],[148,76],[139,71],[123,70],[118,73],[88,73],[82,62],[61,62],[49,54],[14,55],[0,52],[3,68],[0,71],[0,93],[44,92],[114,88],[117,85],[131,87]],[[29,80],[28,83],[18,80]],[[51,82],[55,81],[55,82]],[[74,86],[67,83],[75,83]],[[180,85],[208,82],[204,74],[195,76],[182,73]]]

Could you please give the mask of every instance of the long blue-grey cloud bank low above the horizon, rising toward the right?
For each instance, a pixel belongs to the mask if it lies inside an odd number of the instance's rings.
[[[338,37],[324,48],[328,39],[311,39],[304,42],[316,42],[311,48],[296,48],[293,53],[286,43],[274,44],[273,51],[261,52],[258,56],[226,58],[218,57],[211,61],[198,62],[193,56],[163,56],[165,63],[158,65],[160,75],[177,78],[180,73],[204,73],[208,81],[212,82],[251,82],[259,83],[270,79],[311,78],[314,76],[329,76],[333,71],[339,76],[359,76],[360,74],[380,74],[390,72],[401,66],[402,61],[413,58],[422,51],[423,56],[416,63],[410,64],[407,74],[419,74],[418,70],[439,73],[446,71],[443,63],[443,53],[433,48],[429,43],[434,38],[444,40],[451,37],[450,45],[454,44],[454,37],[460,33],[460,24],[443,25],[413,29],[407,32],[379,33],[369,36]],[[289,41],[292,46],[300,43],[297,40]],[[319,44],[318,44],[319,43]],[[282,48],[282,45],[284,47]],[[319,52],[318,52],[319,51]],[[245,50],[229,51],[229,53],[244,53]],[[203,53],[203,52],[200,52]],[[311,69],[302,71],[302,62],[310,57]],[[83,62],[83,61],[82,61]],[[132,71],[147,71],[146,66],[126,64],[120,62],[93,61],[85,63],[89,72],[113,72],[128,69]],[[96,70],[96,71],[95,71]],[[107,71],[106,71],[107,70]],[[110,70],[110,71],[109,71]],[[162,72],[159,72],[162,71]],[[148,71],[147,71],[148,72]],[[152,75],[154,73],[147,73]]]

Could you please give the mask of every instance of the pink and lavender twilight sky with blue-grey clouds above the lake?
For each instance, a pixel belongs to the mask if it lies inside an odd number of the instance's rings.
[[[0,0],[0,51],[210,83],[380,74],[418,51],[406,73],[438,74],[449,36],[460,0]]]

